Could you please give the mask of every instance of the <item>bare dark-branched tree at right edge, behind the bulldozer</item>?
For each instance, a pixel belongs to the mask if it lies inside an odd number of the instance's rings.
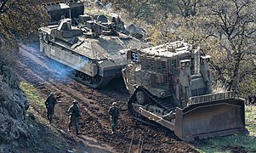
[[[253,0],[223,0],[208,3],[213,20],[208,23],[208,37],[219,41],[219,52],[224,52],[222,65],[213,69],[228,83],[228,90],[239,91],[246,77],[255,77],[256,11]],[[204,11],[205,12],[205,11]]]

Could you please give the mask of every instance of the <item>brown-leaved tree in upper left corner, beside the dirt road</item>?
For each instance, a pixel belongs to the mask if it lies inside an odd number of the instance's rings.
[[[11,62],[18,42],[31,41],[38,27],[48,23],[48,19],[40,0],[1,0],[0,61]]]

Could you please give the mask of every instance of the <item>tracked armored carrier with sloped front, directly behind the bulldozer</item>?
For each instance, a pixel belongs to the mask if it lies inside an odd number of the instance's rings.
[[[90,88],[105,87],[112,78],[122,77],[128,48],[149,47],[123,34],[121,22],[108,23],[102,15],[96,20],[79,15],[77,22],[78,26],[72,26],[71,19],[63,19],[58,25],[41,27],[40,50],[71,67],[73,77]]]

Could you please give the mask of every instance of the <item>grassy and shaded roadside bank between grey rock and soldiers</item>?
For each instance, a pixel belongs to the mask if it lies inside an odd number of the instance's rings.
[[[39,89],[28,82],[20,82],[20,88],[26,93],[31,106],[28,110],[28,122],[32,125],[34,133],[28,139],[26,147],[20,147],[20,152],[84,152],[87,150],[81,142],[77,142],[64,131],[54,125],[48,124],[44,118],[46,109],[45,99]]]

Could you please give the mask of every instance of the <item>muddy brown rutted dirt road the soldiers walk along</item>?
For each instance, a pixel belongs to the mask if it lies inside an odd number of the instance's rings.
[[[44,98],[54,91],[61,101],[56,105],[53,126],[67,132],[67,109],[73,99],[79,101],[82,111],[80,135],[83,144],[104,151],[136,152],[143,141],[142,152],[196,152],[190,144],[180,141],[174,133],[163,127],[151,127],[134,121],[126,108],[129,94],[122,79],[116,79],[106,88],[92,89],[67,77],[65,66],[48,59],[39,51],[39,44],[20,46],[16,72],[24,82],[39,89]],[[121,108],[117,133],[111,134],[107,111],[112,102]],[[46,118],[45,112],[43,117]],[[74,133],[74,131],[72,131]],[[72,133],[72,137],[76,137]],[[134,140],[131,145],[131,140]],[[140,140],[140,141],[139,141]],[[140,143],[141,144],[141,143]]]

